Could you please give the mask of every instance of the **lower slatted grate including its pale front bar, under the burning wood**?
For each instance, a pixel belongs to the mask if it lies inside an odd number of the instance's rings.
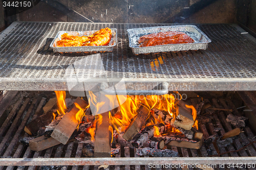
[[[10,114],[3,119],[3,125],[0,126],[0,164],[6,164],[8,162],[11,162],[15,165],[27,165],[27,166],[0,166],[0,169],[4,170],[11,170],[11,169],[60,169],[60,168],[53,168],[53,166],[49,165],[56,165],[58,161],[60,161],[60,164],[66,165],[74,165],[74,164],[82,164],[82,159],[80,160],[67,160],[67,159],[60,159],[56,160],[54,158],[83,158],[84,164],[88,164],[88,158],[84,158],[82,155],[82,149],[83,149],[83,143],[78,143],[77,141],[71,141],[70,143],[63,145],[59,144],[55,147],[35,152],[31,151],[30,147],[28,145],[22,144],[18,142],[18,139],[20,137],[28,137],[28,134],[24,132],[25,125],[31,120],[31,118],[36,117],[38,114],[40,114],[40,110],[42,107],[44,107],[47,99],[41,98],[40,95],[38,95],[36,98],[26,98],[23,99],[23,93],[18,92],[16,95],[16,103],[13,105],[12,110],[10,110]],[[31,95],[33,96],[33,95]],[[3,99],[6,100],[6,99]],[[191,100],[191,103],[193,105],[196,105],[200,101],[199,98]],[[234,104],[230,100],[224,100],[220,99],[217,101],[216,99],[211,100],[211,104],[215,106],[216,108],[222,108],[222,109],[233,109],[233,114],[240,115],[241,113],[236,109]],[[230,111],[215,111],[215,113],[212,114],[214,119],[211,123],[207,124],[200,124],[199,129],[203,132],[204,136],[207,138],[210,135],[218,135],[221,136],[224,133],[230,131],[231,129],[234,129],[236,127],[233,127],[231,124],[226,122],[227,115],[230,114]],[[221,130],[217,133],[215,128],[221,128]],[[231,152],[222,155],[221,157],[210,157],[210,155],[215,155],[218,152],[219,153],[225,153],[228,151],[236,151],[247,145],[251,141],[255,141],[254,134],[252,133],[251,129],[246,126],[243,129],[244,132],[240,133],[240,135],[234,137],[233,143],[231,145],[228,145],[227,147],[224,147],[222,145],[214,145],[210,144],[209,146],[206,146],[205,144],[202,145],[200,150],[196,149],[187,149],[187,148],[180,148],[180,147],[172,147],[172,150],[177,151],[179,153],[179,158],[170,158],[169,161],[166,161],[165,158],[148,158],[148,160],[151,162],[152,160],[159,161],[164,160],[168,163],[182,163],[184,162],[186,157],[194,157],[199,158],[198,160],[194,160],[194,163],[200,164],[200,161],[206,161],[204,158],[208,158],[207,162],[208,164],[219,164],[221,163],[220,159],[223,157],[225,159],[225,163],[230,163],[232,161],[237,161],[236,163],[240,163],[241,159],[244,161],[252,160],[255,161],[256,156],[256,144],[252,143],[249,145],[246,149],[243,149],[239,152]],[[135,157],[136,159],[132,162],[123,161],[121,164],[119,161],[116,161],[116,165],[111,165],[109,169],[150,169],[147,165],[143,165],[143,161],[146,160],[139,160],[140,156],[137,156],[136,149],[133,148],[127,148],[124,146],[121,146],[121,152],[116,154],[114,157],[116,158],[129,158],[129,157]],[[143,157],[143,156],[141,156]],[[148,157],[148,156],[144,156]],[[7,159],[4,159],[7,158]],[[15,158],[41,158],[41,159],[32,159],[32,160],[17,160]],[[50,159],[46,159],[50,158]],[[51,160],[52,159],[52,160]],[[103,158],[90,158],[91,160],[91,166],[69,166],[69,167],[62,167],[61,169],[98,169],[97,161],[101,160],[104,161]],[[8,160],[8,161],[7,161]],[[97,161],[96,161],[97,160]],[[72,162],[73,161],[73,162]],[[173,162],[170,162],[173,161]],[[224,160],[222,160],[224,161]],[[112,159],[111,162],[115,162],[115,159]],[[139,162],[142,162],[141,164]],[[193,162],[193,160],[190,160],[190,162]],[[94,163],[94,164],[93,164]],[[127,163],[127,164],[126,164]],[[134,165],[131,165],[133,164]],[[246,162],[244,162],[246,163]],[[140,165],[139,165],[140,164]],[[203,163],[202,163],[203,164]],[[28,166],[28,165],[34,165],[34,166]],[[46,166],[36,166],[36,165],[46,165]],[[94,165],[94,166],[93,166]],[[161,168],[159,168],[161,169]],[[165,168],[163,168],[165,169]],[[193,169],[199,169],[199,168],[193,168]],[[219,169],[219,168],[215,168]],[[241,169],[241,168],[234,168],[234,169]],[[244,169],[244,168],[243,168]]]

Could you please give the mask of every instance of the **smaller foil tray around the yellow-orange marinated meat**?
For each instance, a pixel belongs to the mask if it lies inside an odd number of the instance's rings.
[[[59,31],[52,43],[50,44],[50,47],[52,48],[54,53],[73,53],[73,52],[112,52],[114,46],[116,45],[117,41],[117,31],[115,28],[112,28],[112,38],[110,40],[109,45],[105,46],[62,46],[57,47],[56,42],[60,40],[61,35],[64,33],[68,33],[70,35],[92,35],[98,30],[93,31]]]

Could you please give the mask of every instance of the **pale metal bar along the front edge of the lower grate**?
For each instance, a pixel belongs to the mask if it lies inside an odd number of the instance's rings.
[[[156,158],[156,157],[139,157],[139,158],[2,158],[1,165],[14,166],[29,166],[29,165],[148,165],[165,164],[166,162],[172,164],[227,164],[238,163],[245,161],[246,163],[255,163],[254,157],[182,157],[182,158]]]

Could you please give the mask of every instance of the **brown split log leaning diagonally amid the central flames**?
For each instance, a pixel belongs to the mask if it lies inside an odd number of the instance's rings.
[[[123,134],[123,138],[127,141],[131,140],[145,124],[150,111],[145,106],[141,105],[137,111],[136,117],[133,119],[129,127]]]

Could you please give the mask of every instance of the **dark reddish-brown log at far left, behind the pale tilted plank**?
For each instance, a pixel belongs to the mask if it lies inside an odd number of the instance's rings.
[[[38,132],[38,130],[41,127],[45,127],[49,125],[53,120],[53,113],[55,113],[58,109],[57,104],[55,104],[50,111],[47,113],[36,117],[34,120],[32,120],[28,125],[25,126],[24,131],[27,132],[29,135],[35,136]]]

